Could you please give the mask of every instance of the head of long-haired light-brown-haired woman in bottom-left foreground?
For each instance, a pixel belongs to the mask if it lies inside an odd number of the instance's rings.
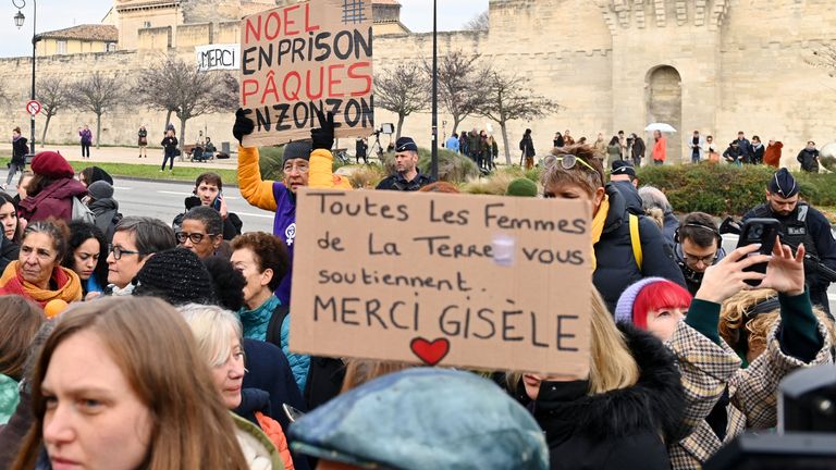
[[[15,470],[246,470],[233,422],[183,319],[162,300],[78,304],[32,376]]]

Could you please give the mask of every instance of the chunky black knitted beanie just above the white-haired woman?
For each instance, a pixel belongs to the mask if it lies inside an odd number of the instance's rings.
[[[134,295],[159,297],[173,306],[212,304],[212,279],[200,259],[185,248],[160,251],[136,274]]]

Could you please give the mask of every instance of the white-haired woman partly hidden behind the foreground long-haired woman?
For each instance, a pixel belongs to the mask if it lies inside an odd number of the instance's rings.
[[[271,407],[269,394],[260,389],[243,388],[246,372],[244,346],[241,322],[235,313],[220,307],[197,304],[180,307],[179,310],[195,335],[200,356],[209,364],[212,383],[223,404],[244,418],[236,419],[244,455],[255,455],[254,458],[265,463],[271,461],[270,467],[263,468],[293,470],[284,431],[281,424],[268,416]]]

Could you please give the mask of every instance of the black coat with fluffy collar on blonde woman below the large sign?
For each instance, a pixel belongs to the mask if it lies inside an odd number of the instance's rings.
[[[669,469],[665,443],[683,437],[685,392],[661,341],[618,325],[639,366],[628,388],[587,395],[588,382],[543,382],[532,404],[552,469]]]

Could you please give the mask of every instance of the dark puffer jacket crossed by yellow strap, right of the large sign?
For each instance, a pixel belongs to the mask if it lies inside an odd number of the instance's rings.
[[[606,186],[606,194],[610,197],[610,212],[601,239],[595,244],[598,267],[592,282],[610,311],[615,311],[615,305],[624,289],[642,277],[664,277],[685,287],[685,277],[676,265],[673,250],[665,243],[659,225],[646,217],[639,217],[639,238],[643,258],[639,271],[632,251],[625,199],[613,185]]]

